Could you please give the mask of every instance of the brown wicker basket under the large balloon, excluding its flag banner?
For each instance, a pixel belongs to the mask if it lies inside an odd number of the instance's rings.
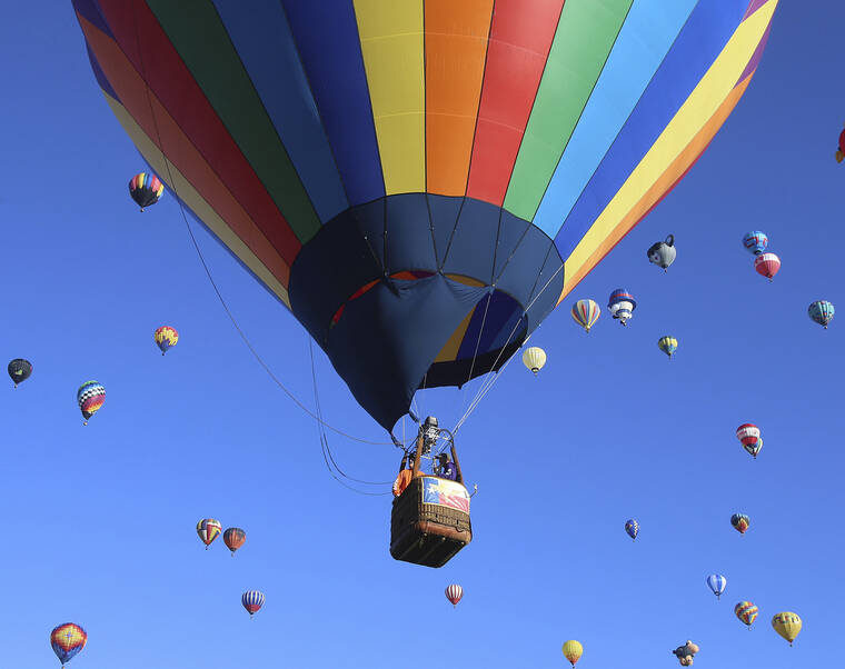
[[[473,526],[469,513],[422,502],[426,478],[412,479],[394,500],[390,555],[405,562],[443,567],[473,540]]]

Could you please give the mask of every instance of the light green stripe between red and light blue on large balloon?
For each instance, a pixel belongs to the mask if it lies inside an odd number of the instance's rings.
[[[567,0],[505,196],[525,220],[537,212],[633,0]]]

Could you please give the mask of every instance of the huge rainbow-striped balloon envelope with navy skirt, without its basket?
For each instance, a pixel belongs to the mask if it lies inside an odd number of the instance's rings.
[[[500,369],[678,183],[776,6],[73,0],[148,164],[387,430]]]

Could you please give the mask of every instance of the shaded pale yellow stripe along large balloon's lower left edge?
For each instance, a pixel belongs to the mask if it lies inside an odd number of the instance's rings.
[[[143,159],[148,162],[150,168],[156,170],[159,174],[172,176],[173,183],[170,187],[179,194],[179,198],[185,202],[190,210],[197,214],[202,222],[208,226],[208,229],[222,241],[238,259],[249,268],[249,270],[264,283],[274,294],[276,294],[282,303],[290,309],[290,298],[288,297],[287,289],[279,282],[274,273],[261,262],[258,257],[245,244],[240,238],[232,232],[231,228],[226,224],[226,221],[221,219],[218,213],[211,208],[211,206],[197,192],[182,173],[170,162],[165,162],[159,148],[147,137],[147,133],[141,127],[135,122],[135,119],[129,116],[126,108],[112,99],[108,93],[103,93],[106,101],[109,103],[112,113],[117,117],[120,124],[123,127],[123,131],[129,136],[135,146],[143,156]],[[278,262],[284,264],[281,257],[278,257]]]

